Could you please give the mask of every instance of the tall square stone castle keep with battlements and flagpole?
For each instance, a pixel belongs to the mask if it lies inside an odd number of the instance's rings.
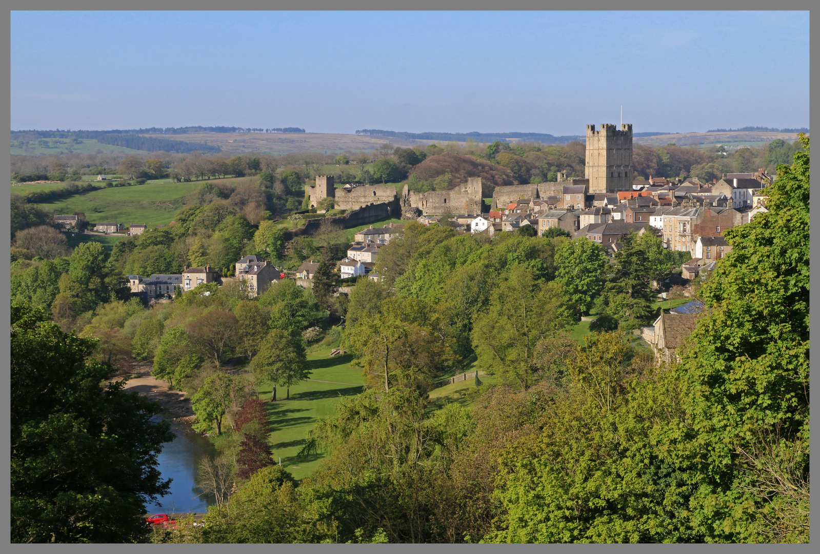
[[[632,124],[621,130],[604,123],[601,130],[586,126],[585,177],[590,180],[587,192],[617,192],[632,189]]]

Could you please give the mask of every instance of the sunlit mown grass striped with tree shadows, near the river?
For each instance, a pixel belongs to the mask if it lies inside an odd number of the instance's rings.
[[[259,397],[266,401],[268,410],[268,424],[271,426],[268,443],[271,451],[277,461],[282,458],[282,467],[294,478],[301,479],[311,474],[326,456],[322,452],[309,456],[307,460],[296,460],[296,454],[307,441],[307,432],[319,419],[335,415],[335,405],[343,398],[362,392],[364,380],[361,369],[351,367],[351,359],[353,355],[349,354],[330,358],[330,348],[308,354],[312,381],[291,387],[290,400],[268,402],[271,386],[265,384],[259,387]],[[277,387],[277,398],[285,398],[286,393],[284,387]]]

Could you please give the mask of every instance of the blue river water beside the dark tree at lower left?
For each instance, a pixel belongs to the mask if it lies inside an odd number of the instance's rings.
[[[154,421],[160,419],[160,416],[153,418]],[[198,433],[191,433],[189,424],[171,421],[171,431],[175,433],[175,439],[163,444],[162,452],[157,456],[162,478],[173,479],[170,492],[158,498],[157,504],[148,504],[145,507],[151,513],[207,512],[207,506],[214,504],[214,498],[212,495],[198,496],[202,491],[197,488],[195,480],[199,460],[203,456],[213,454],[211,441]]]

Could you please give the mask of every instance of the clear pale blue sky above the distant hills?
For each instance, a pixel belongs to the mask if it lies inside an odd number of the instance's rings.
[[[11,130],[583,135],[621,106],[636,133],[808,127],[809,12],[11,12]]]

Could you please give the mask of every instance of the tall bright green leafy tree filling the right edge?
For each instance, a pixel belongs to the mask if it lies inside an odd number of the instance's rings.
[[[777,167],[768,213],[726,233],[701,288],[708,311],[678,369],[686,418],[672,448],[698,484],[691,525],[710,542],[809,540],[809,137]]]

